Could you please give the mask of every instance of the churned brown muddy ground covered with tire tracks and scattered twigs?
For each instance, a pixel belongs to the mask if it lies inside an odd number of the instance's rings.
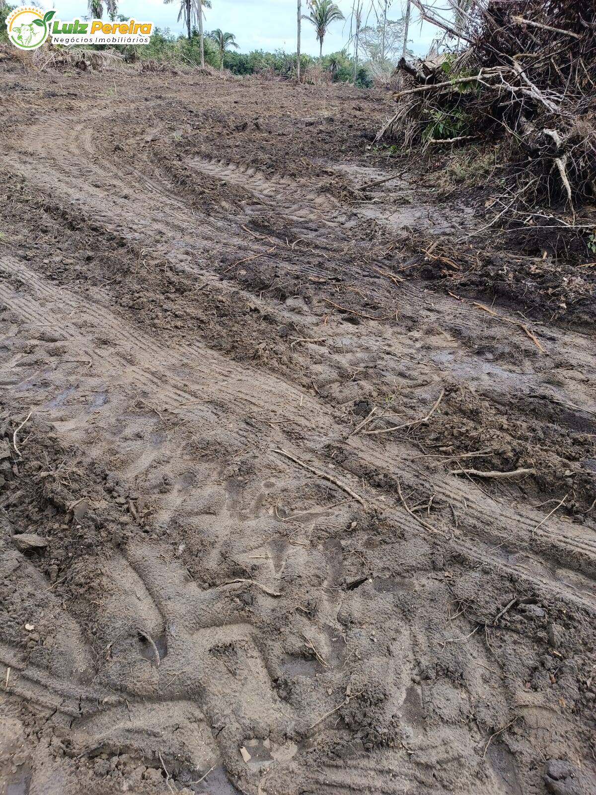
[[[594,328],[372,91],[2,69],[2,795],[594,792]]]

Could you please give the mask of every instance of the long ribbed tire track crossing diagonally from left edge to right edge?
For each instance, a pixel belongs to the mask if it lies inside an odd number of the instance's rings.
[[[167,370],[157,370],[154,366],[148,369],[147,366],[137,366],[130,363],[130,357],[125,355],[114,356],[110,353],[94,349],[91,340],[87,337],[80,335],[80,332],[72,326],[72,324],[60,324],[60,331],[68,334],[70,339],[78,343],[79,350],[89,351],[93,350],[95,355],[99,355],[102,359],[102,366],[110,366],[120,374],[120,378],[126,374],[125,383],[129,386],[141,385],[147,390],[147,396],[150,401],[157,403],[158,410],[168,410],[172,412],[182,411],[188,415],[188,420],[204,423],[205,421],[219,422],[217,413],[212,408],[219,395],[225,391],[226,394],[234,397],[237,401],[246,402],[258,406],[260,412],[265,409],[273,411],[274,405],[282,404],[283,418],[291,421],[292,425],[296,425],[301,429],[308,430],[309,433],[315,437],[324,438],[328,436],[331,426],[335,424],[335,419],[329,413],[321,413],[320,402],[305,394],[301,390],[292,389],[285,382],[278,378],[270,378],[267,374],[259,371],[255,374],[250,370],[242,373],[242,367],[238,365],[231,365],[225,359],[215,355],[213,352],[207,353],[204,348],[198,346],[182,346],[176,352],[161,346],[153,339],[149,339],[141,335],[137,329],[134,331],[127,328],[122,319],[117,318],[107,311],[105,308],[98,312],[95,304],[88,301],[83,301],[79,297],[75,297],[70,291],[61,288],[56,290],[51,283],[45,284],[41,278],[30,269],[26,269],[20,263],[13,263],[6,258],[0,259],[0,266],[4,267],[15,276],[19,278],[23,286],[28,290],[33,290],[37,296],[46,304],[56,307],[56,305],[64,305],[64,312],[67,316],[76,316],[92,318],[94,321],[93,332],[95,335],[101,335],[108,339],[118,339],[118,347],[122,347],[122,343],[126,344],[128,351],[135,351],[135,353],[142,352],[142,358],[152,363],[168,363]],[[6,302],[7,305],[14,307],[16,311],[23,311],[25,317],[30,324],[37,327],[46,327],[48,321],[52,320],[52,316],[38,303],[30,299],[26,300],[25,297],[15,295],[6,285],[0,285],[0,298]],[[56,326],[56,324],[53,324]],[[76,352],[75,352],[76,355]],[[181,386],[176,388],[178,379],[173,376],[176,369],[187,366],[188,363],[200,363],[201,373],[203,374],[203,384],[197,378],[196,372],[188,371],[187,377],[192,378],[192,391],[184,390]],[[238,378],[240,374],[240,378]],[[111,379],[110,379],[111,380]],[[204,382],[208,381],[208,386]],[[180,383],[180,382],[179,382]],[[284,397],[281,397],[281,396]],[[157,400],[157,396],[159,399]],[[200,408],[193,408],[193,401],[200,401]],[[187,404],[187,405],[185,405]],[[151,405],[151,404],[149,404]],[[210,413],[205,414],[205,409]],[[273,418],[280,417],[277,412],[273,413]],[[261,415],[257,415],[259,419],[263,419]],[[266,420],[265,420],[266,421]],[[316,425],[313,423],[316,422]],[[339,437],[339,429],[335,432],[335,436]],[[362,439],[362,437],[359,437]],[[354,460],[354,452],[358,452],[358,457],[362,460],[362,466],[368,471],[386,471],[385,456],[378,456],[374,452],[373,444],[363,444],[361,441],[355,441],[354,437],[349,442]],[[312,456],[312,451],[311,451]],[[395,460],[401,460],[401,467],[404,471],[404,476],[412,481],[415,479],[416,470],[408,464],[407,456],[399,448]],[[323,460],[315,462],[321,468],[325,468],[326,464]],[[353,467],[352,467],[353,468]],[[428,478],[428,473],[427,473]],[[474,533],[474,525],[478,528],[486,528],[493,522],[490,522],[490,517],[496,518],[502,522],[505,527],[517,525],[528,537],[536,535],[536,543],[541,540],[548,542],[548,545],[553,545],[553,538],[557,539],[557,543],[552,547],[553,553],[551,560],[555,560],[555,549],[567,551],[567,563],[574,562],[575,555],[579,556],[582,560],[582,566],[587,567],[586,571],[594,576],[596,569],[596,541],[590,538],[590,530],[578,530],[575,537],[570,535],[564,523],[557,522],[552,519],[548,525],[544,525],[534,529],[536,525],[540,524],[540,514],[536,511],[528,515],[522,513],[521,508],[518,510],[507,510],[505,506],[497,506],[490,500],[486,500],[486,495],[478,489],[470,488],[469,485],[463,485],[461,480],[457,477],[450,477],[448,479],[428,478],[428,487],[432,487],[435,494],[438,494],[447,504],[455,504],[462,508],[466,506],[467,522],[470,522],[470,532]],[[353,487],[358,488],[358,483]],[[398,502],[394,501],[394,506]],[[496,515],[495,515],[496,514]],[[406,526],[409,524],[409,519],[404,515]],[[494,520],[493,520],[494,521]],[[486,533],[486,530],[484,531]],[[506,537],[497,532],[497,537],[503,541]],[[481,538],[482,538],[481,533]],[[528,543],[528,541],[526,541]],[[575,553],[575,555],[574,555]],[[499,564],[505,565],[499,560]],[[515,568],[515,567],[513,567]]]

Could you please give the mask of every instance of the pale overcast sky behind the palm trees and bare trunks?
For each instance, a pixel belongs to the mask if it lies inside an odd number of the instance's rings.
[[[15,0],[13,0],[15,2]],[[18,0],[16,0],[18,2]],[[25,0],[23,0],[25,2]],[[341,49],[350,38],[350,14],[352,0],[336,0],[346,17],[346,22],[334,22],[323,45],[324,52],[335,52]],[[405,7],[405,0],[403,0]],[[211,0],[212,8],[206,9],[205,29],[221,28],[236,36],[242,52],[253,49],[296,51],[296,0]],[[83,17],[87,14],[86,0],[43,0],[46,9],[56,8],[59,18],[64,20]],[[302,2],[306,10],[306,0]],[[365,7],[369,6],[365,0]],[[380,6],[376,0],[375,6]],[[162,0],[119,0],[118,11],[138,21],[151,21],[159,28],[169,28],[174,33],[182,30],[176,21],[180,0],[173,0],[165,6]],[[398,19],[402,16],[402,0],[393,0],[388,17]],[[107,15],[104,13],[104,18]],[[417,55],[428,51],[436,29],[424,23],[420,26],[416,9],[412,6],[412,23],[408,39],[410,48]],[[374,14],[370,15],[373,24]],[[302,23],[302,49],[312,55],[319,54],[319,45],[315,38],[315,29],[309,22]]]

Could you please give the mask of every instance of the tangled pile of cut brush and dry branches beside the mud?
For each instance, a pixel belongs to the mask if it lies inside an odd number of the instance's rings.
[[[490,226],[535,239],[540,230],[555,252],[596,254],[596,2],[454,3],[455,21],[412,2],[458,46],[401,60],[397,112],[377,141],[500,142],[510,168]]]

